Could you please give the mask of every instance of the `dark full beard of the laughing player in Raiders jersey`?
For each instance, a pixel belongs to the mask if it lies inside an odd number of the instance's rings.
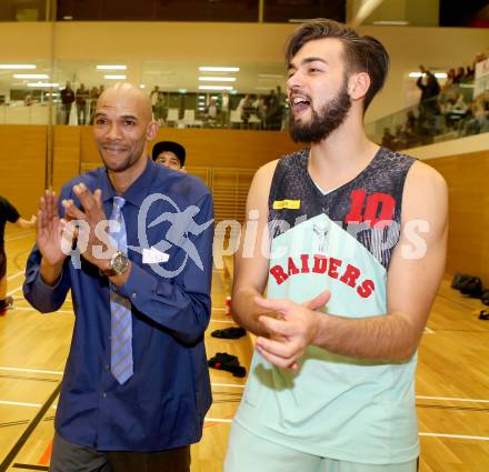
[[[293,142],[318,143],[327,139],[347,118],[351,108],[351,99],[348,94],[347,83],[331,99],[325,103],[319,112],[312,109],[312,119],[308,123],[296,120],[293,113],[289,116],[289,133]]]

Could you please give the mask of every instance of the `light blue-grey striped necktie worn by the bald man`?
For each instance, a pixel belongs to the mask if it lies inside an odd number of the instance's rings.
[[[128,239],[122,207],[126,200],[122,197],[113,198],[111,220],[120,224],[118,232],[110,232],[119,251],[127,254]],[[111,285],[112,287],[112,285]],[[132,314],[131,302],[110,290],[110,371],[117,381],[122,384],[133,374],[132,368]]]

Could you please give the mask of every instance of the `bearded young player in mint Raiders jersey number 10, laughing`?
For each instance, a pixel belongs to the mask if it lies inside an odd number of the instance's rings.
[[[446,183],[365,133],[389,64],[379,41],[319,19],[286,57],[290,134],[310,147],[259,169],[249,191],[258,243],[237,254],[232,302],[257,352],[224,471],[413,472],[417,349],[443,273]]]

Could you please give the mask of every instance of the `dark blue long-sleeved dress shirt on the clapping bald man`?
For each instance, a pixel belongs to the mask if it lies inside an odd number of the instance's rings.
[[[71,180],[62,188],[60,201],[73,199],[80,207],[72,191],[80,182],[91,191],[102,190],[109,218],[116,192],[106,169]],[[164,197],[148,207],[144,199],[151,195]],[[73,259],[67,258],[59,282],[49,287],[39,274],[41,254],[34,247],[23,293],[46,313],[58,310],[71,289],[76,321],[56,416],[58,433],[100,451],[161,451],[199,441],[211,404],[203,332],[210,319],[213,225],[201,232],[196,228],[213,218],[212,199],[199,179],[150,159],[122,197],[128,247],[133,248],[128,253],[131,273],[118,289],[132,303],[134,374],[130,380],[120,385],[110,372],[109,280],[97,267],[81,258],[77,269]],[[176,243],[166,243],[168,261],[158,264],[167,272],[156,273],[144,261],[141,245],[149,249],[164,242],[171,233],[167,231],[174,229],[171,215],[191,205],[198,208],[193,220],[184,231],[180,228],[178,241],[170,235]],[[61,205],[59,211],[63,214]],[[141,219],[144,213],[146,222],[138,223],[138,214]],[[160,222],[148,228],[157,218]],[[138,224],[147,241],[141,241]],[[189,247],[197,249],[201,264],[188,257]]]

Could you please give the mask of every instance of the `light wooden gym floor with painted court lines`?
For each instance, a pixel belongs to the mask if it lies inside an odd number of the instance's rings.
[[[0,472],[48,470],[71,340],[70,300],[59,312],[41,315],[22,298],[23,268],[33,241],[32,231],[7,229],[8,293],[14,298],[14,310],[0,318]],[[226,351],[248,368],[248,337],[210,337],[216,329],[233,325],[224,313],[228,290],[223,272],[216,270],[208,358]],[[420,472],[489,471],[489,321],[478,320],[481,309],[479,300],[466,299],[443,282],[419,350]],[[203,439],[192,448],[192,472],[220,472],[244,380],[211,369],[211,382],[214,402]]]

